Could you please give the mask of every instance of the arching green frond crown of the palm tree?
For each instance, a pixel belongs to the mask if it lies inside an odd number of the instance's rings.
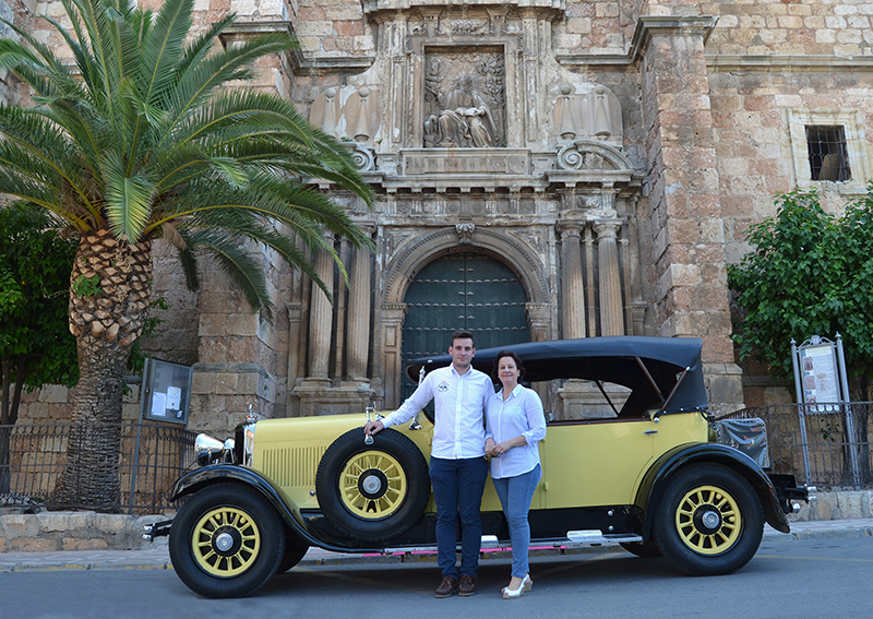
[[[0,106],[0,192],[45,209],[80,235],[108,228],[130,242],[165,238],[179,249],[191,286],[199,283],[192,257],[212,254],[265,317],[265,249],[330,296],[311,251],[331,252],[345,271],[324,233],[371,243],[306,179],[367,203],[372,191],[350,151],[312,128],[294,104],[235,84],[255,75],[258,59],[297,43],[274,33],[223,49],[217,37],[232,15],[191,38],[193,0],[166,0],[156,13],[136,4],[69,0],[70,26],[46,17],[75,67],[8,23],[20,40],[0,38],[0,67],[33,88],[37,106]],[[74,285],[87,294],[93,283]]]

